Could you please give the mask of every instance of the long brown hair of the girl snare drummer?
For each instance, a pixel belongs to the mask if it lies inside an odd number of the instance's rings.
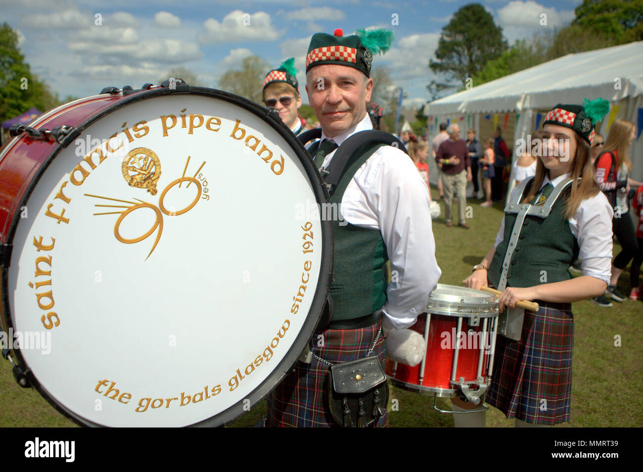
[[[594,178],[592,159],[590,159],[590,145],[575,130],[572,131],[576,139],[576,154],[574,156],[574,166],[572,167],[572,191],[565,202],[565,218],[567,219],[576,214],[583,200],[594,197],[601,191]],[[536,198],[540,187],[543,185],[543,180],[545,180],[545,175],[548,175],[548,173],[549,170],[545,168],[543,161],[538,159],[534,182],[527,193],[527,197],[523,198],[522,203],[529,203]],[[579,177],[581,178],[580,182],[578,181]]]

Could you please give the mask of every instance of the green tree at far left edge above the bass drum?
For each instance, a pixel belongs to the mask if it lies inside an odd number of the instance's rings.
[[[32,74],[18,48],[17,33],[5,23],[0,27],[0,121],[36,107],[45,112],[60,105],[57,94]]]

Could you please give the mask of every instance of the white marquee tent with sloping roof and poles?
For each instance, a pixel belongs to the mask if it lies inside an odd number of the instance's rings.
[[[616,118],[628,119],[637,125],[637,139],[629,150],[633,161],[630,175],[643,181],[643,41],[559,57],[431,101],[424,107],[424,114],[437,118],[438,122],[446,118],[455,120],[467,116],[467,121],[473,118],[471,127],[478,136],[481,116],[516,114],[513,136],[516,143],[518,139],[526,140],[527,134],[536,130],[536,122],[541,125],[541,119],[554,105],[582,104],[583,97],[610,101],[610,113],[597,128],[603,137]],[[515,153],[517,146],[512,146],[510,139],[505,136],[507,145],[513,147]],[[512,159],[514,166],[518,157]],[[513,174],[512,167],[510,182],[514,182]]]

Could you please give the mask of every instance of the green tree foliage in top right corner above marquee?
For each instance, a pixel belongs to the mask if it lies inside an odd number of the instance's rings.
[[[616,44],[643,40],[643,0],[584,0],[572,26],[609,37]]]

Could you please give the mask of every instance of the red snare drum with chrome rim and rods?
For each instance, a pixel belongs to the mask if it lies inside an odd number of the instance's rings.
[[[388,359],[386,374],[401,389],[478,405],[490,383],[497,320],[494,295],[438,284],[410,328],[424,337],[424,359],[415,367]]]

